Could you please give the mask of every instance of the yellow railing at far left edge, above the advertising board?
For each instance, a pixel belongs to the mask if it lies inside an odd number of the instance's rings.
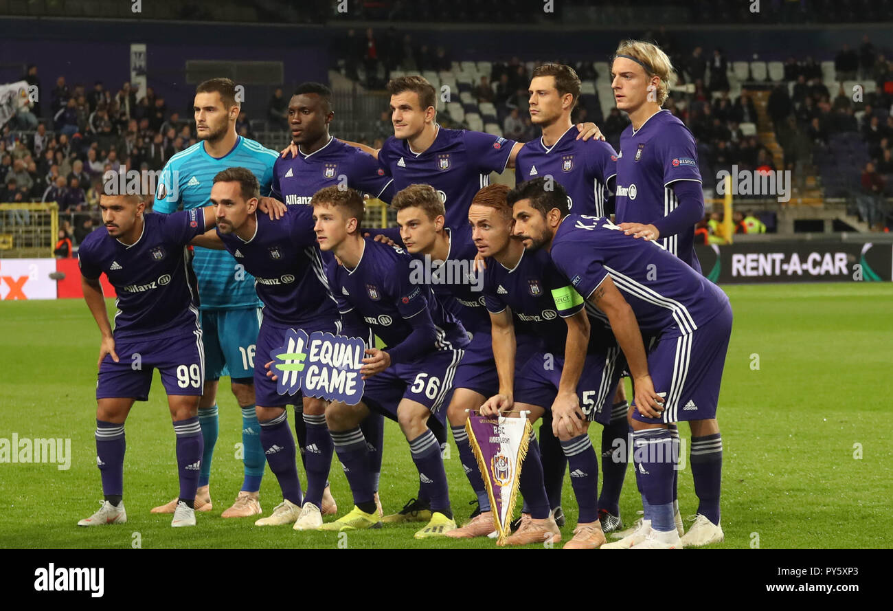
[[[58,234],[59,206],[55,202],[0,204],[0,257],[53,256]]]

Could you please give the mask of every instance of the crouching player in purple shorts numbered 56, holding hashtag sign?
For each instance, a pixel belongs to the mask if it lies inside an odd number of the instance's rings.
[[[400,424],[430,498],[430,522],[418,539],[455,528],[440,445],[427,421],[445,419],[444,403],[468,336],[462,323],[434,297],[429,285],[413,283],[412,259],[395,247],[363,238],[363,198],[354,189],[323,188],[313,196],[314,230],[323,251],[338,258],[326,265],[344,334],[366,337],[368,325],[386,345],[369,347],[363,359],[365,389],[356,406],[333,401],[326,421],[344,466],[355,507],[321,530],[380,526],[373,501],[369,448],[359,424],[374,409]]]

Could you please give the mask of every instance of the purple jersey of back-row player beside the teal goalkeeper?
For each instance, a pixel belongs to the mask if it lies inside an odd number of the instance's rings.
[[[273,165],[272,197],[287,205],[309,205],[323,187],[344,184],[390,202],[394,185],[375,157],[330,138],[329,144],[310,155],[298,150],[297,157],[280,157]]]

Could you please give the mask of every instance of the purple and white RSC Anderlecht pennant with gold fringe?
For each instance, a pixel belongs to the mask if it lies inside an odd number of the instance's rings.
[[[527,456],[530,432],[533,430],[527,413],[520,418],[485,418],[470,413],[465,431],[478,459],[480,473],[487,496],[493,508],[493,525],[504,541],[512,534],[510,523],[514,513],[514,501],[518,496],[521,465]]]

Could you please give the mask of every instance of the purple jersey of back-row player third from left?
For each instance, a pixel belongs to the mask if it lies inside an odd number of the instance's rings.
[[[415,153],[406,140],[391,136],[379,151],[379,163],[400,191],[412,184],[430,185],[447,208],[447,227],[468,225],[472,198],[489,184],[490,172],[502,172],[513,140],[480,131],[447,130],[438,125],[434,143]]]

